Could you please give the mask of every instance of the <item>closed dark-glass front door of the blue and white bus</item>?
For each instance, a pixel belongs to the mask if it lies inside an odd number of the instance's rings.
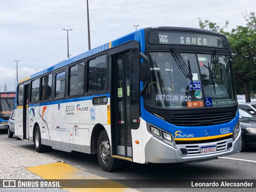
[[[130,117],[130,52],[116,55],[115,85],[115,141],[118,156],[132,157]],[[114,79],[113,79],[114,80]]]

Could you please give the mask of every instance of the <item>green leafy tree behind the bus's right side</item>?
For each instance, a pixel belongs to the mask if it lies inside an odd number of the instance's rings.
[[[198,23],[201,29],[220,32],[228,38],[234,63],[234,77],[242,83],[246,102],[250,102],[250,82],[256,80],[256,16],[255,12],[246,12],[243,16],[247,22],[246,26],[237,26],[230,33],[224,32],[228,21],[222,28],[208,20],[202,22],[201,18],[198,18]],[[240,83],[237,82],[236,86]],[[240,92],[239,87],[236,89]]]

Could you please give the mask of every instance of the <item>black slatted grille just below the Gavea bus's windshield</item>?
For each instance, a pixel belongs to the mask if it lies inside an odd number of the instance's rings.
[[[218,125],[228,123],[234,119],[231,112],[210,113],[210,114],[188,114],[188,115],[173,115],[170,123],[176,126],[197,127]]]

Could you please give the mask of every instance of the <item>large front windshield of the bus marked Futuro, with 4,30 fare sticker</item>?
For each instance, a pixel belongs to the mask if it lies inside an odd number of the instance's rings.
[[[148,53],[150,79],[145,94],[148,105],[194,108],[236,103],[229,56],[195,53],[180,53],[180,56],[178,59],[172,52]]]

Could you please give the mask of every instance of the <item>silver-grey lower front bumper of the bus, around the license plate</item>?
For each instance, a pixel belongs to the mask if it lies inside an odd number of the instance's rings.
[[[216,145],[216,152],[200,153],[201,146]],[[174,148],[155,137],[151,137],[145,146],[145,161],[152,163],[176,163],[176,162],[200,162],[211,160],[219,156],[235,154],[241,150],[241,129],[235,141],[233,139],[224,139],[220,141],[197,143],[197,144],[179,144]],[[187,154],[183,154],[181,149],[186,148]]]

